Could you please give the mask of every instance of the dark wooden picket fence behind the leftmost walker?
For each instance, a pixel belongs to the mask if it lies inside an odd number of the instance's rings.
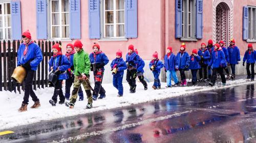
[[[37,71],[34,73],[33,89],[48,87],[48,61],[51,59],[52,45],[54,41],[34,41],[39,45],[42,51],[43,59],[38,65]],[[24,90],[24,82],[22,84],[17,83],[11,79],[12,73],[17,64],[17,50],[19,45],[23,41],[0,41],[0,91],[18,91]],[[61,45],[61,42],[56,41]]]

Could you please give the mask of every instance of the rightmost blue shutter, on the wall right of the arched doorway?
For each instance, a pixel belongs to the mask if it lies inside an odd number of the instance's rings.
[[[244,7],[243,11],[243,40],[247,40],[248,37],[248,28],[249,28],[249,9],[248,7]]]

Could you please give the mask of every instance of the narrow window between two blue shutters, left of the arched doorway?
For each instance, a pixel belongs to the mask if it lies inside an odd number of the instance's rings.
[[[195,0],[183,0],[182,38],[196,38],[196,5]]]

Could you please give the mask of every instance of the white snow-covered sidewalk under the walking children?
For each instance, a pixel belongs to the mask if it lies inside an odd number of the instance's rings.
[[[153,90],[151,87],[153,82],[148,83],[148,90],[144,91],[143,85],[137,82],[137,89],[135,94],[129,93],[129,85],[123,83],[124,95],[123,97],[117,97],[117,90],[111,83],[104,83],[103,87],[106,91],[106,98],[93,102],[92,109],[86,109],[87,100],[77,101],[73,109],[69,109],[64,104],[57,104],[53,107],[49,100],[53,95],[53,88],[37,89],[36,95],[40,99],[41,107],[38,109],[31,109],[33,101],[30,97],[28,105],[28,111],[18,112],[23,101],[22,94],[15,94],[11,92],[0,92],[0,130],[12,128],[15,126],[26,125],[31,123],[40,122],[42,120],[52,120],[69,116],[76,116],[79,114],[95,112],[104,109],[112,109],[116,107],[129,106],[132,104],[138,104],[148,101],[160,100],[175,96],[183,96],[195,92],[209,91],[213,89],[223,89],[233,87],[242,84],[256,83],[256,81],[248,82],[246,79],[238,79],[233,81],[227,81],[226,86],[216,85],[215,87],[174,87],[161,90]],[[166,83],[162,83],[162,87],[165,87]],[[65,87],[63,86],[63,92]],[[85,93],[84,93],[85,95]],[[79,97],[78,97],[79,98]],[[86,99],[86,98],[85,98]]]

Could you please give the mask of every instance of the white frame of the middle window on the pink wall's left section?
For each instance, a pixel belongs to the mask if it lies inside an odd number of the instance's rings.
[[[123,11],[124,12],[124,16],[123,16],[123,18],[124,18],[124,20],[125,20],[125,6],[123,6],[123,10],[116,10],[116,0],[113,0],[113,10],[105,10],[105,1],[106,0],[103,0],[104,1],[104,3],[103,3],[103,38],[124,38],[125,37],[125,34],[124,34],[124,36],[122,36],[122,37],[116,37],[116,35],[117,35],[117,31],[116,31],[116,27],[117,27],[117,25],[121,25],[121,24],[123,24],[124,25],[124,32],[125,32],[125,22],[124,23],[117,23],[116,22],[116,12],[117,11]],[[124,5],[124,3],[125,3],[125,0],[123,1],[123,5]],[[110,24],[110,23],[105,23],[105,15],[106,15],[106,12],[108,12],[108,11],[113,11],[113,13],[114,13],[114,23],[112,24]],[[114,25],[114,27],[113,27],[113,29],[114,29],[114,37],[106,37],[106,25]]]

